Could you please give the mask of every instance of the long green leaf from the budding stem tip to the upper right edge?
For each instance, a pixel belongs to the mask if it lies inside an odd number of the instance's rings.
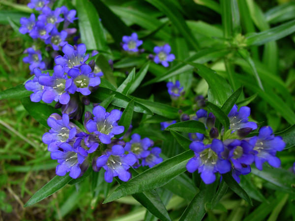
[[[247,46],[263,45],[266,42],[275,41],[286,37],[293,32],[295,32],[295,20],[259,33],[249,34],[246,36],[246,44]]]

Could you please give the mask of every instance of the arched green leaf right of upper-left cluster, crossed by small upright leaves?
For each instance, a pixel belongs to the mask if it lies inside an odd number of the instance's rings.
[[[94,100],[95,103],[97,103],[98,101],[104,101],[105,99],[108,99],[114,94],[115,98],[113,99],[112,104],[119,108],[126,108],[129,102],[132,100],[132,98],[129,98],[124,94],[104,87],[99,87],[95,92],[92,92],[89,97]],[[139,113],[152,114],[152,111],[150,111],[146,106],[136,101],[134,102],[134,111]]]

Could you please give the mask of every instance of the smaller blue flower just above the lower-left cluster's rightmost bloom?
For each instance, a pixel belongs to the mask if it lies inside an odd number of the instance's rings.
[[[124,149],[129,153],[133,153],[138,159],[148,157],[149,147],[153,146],[153,141],[149,138],[141,139],[139,134],[133,134],[131,140],[126,143]]]

